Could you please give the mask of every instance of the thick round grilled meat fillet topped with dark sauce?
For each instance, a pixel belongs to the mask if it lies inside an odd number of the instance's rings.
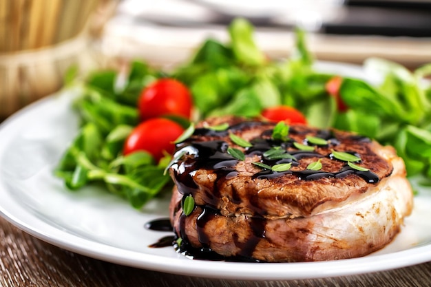
[[[219,123],[229,128],[208,128]],[[412,189],[395,149],[304,125],[291,125],[288,137],[275,140],[274,127],[212,119],[177,145],[169,168],[176,184],[170,213],[181,251],[262,262],[322,261],[367,255],[397,235],[412,210]],[[251,146],[238,145],[231,134]],[[229,147],[242,151],[244,160]],[[346,153],[360,160],[352,162]],[[283,163],[284,169],[271,169]],[[195,206],[185,215],[187,196]]]

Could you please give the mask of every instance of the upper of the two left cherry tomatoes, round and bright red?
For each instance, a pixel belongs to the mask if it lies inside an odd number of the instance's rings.
[[[160,78],[145,87],[138,99],[140,118],[157,118],[159,116],[182,116],[190,118],[191,93],[189,89],[173,78]]]

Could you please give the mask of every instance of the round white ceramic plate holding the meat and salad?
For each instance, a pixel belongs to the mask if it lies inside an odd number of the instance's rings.
[[[346,67],[335,67],[340,69]],[[45,98],[0,127],[0,213],[45,242],[107,262],[229,279],[352,275],[431,260],[431,191],[423,188],[419,188],[414,211],[396,240],[377,253],[357,259],[280,264],[211,262],[187,259],[171,247],[149,248],[168,234],[148,231],[144,225],[167,217],[169,198],[154,200],[143,211],[136,211],[102,189],[67,191],[52,175],[78,129],[70,107],[74,94],[76,91],[65,91]]]

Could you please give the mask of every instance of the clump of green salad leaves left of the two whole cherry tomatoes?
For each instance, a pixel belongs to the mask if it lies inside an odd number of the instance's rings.
[[[139,123],[136,101],[140,91],[158,74],[144,63],[134,62],[123,87],[117,87],[121,75],[115,71],[88,77],[74,102],[82,127],[55,169],[67,188],[102,183],[107,191],[139,209],[171,183],[165,167],[156,164],[149,153],[123,155],[124,142]]]

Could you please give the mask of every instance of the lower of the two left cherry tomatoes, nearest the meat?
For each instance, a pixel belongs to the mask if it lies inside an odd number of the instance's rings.
[[[158,162],[167,153],[173,153],[172,143],[184,132],[178,123],[167,118],[151,118],[140,123],[126,139],[123,153],[147,151]]]

